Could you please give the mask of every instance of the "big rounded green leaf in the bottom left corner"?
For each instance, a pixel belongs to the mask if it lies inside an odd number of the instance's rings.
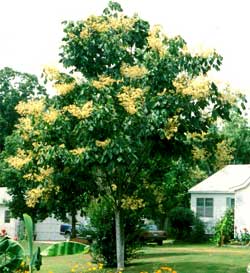
[[[0,238],[0,272],[14,272],[25,257],[23,247],[7,236]]]

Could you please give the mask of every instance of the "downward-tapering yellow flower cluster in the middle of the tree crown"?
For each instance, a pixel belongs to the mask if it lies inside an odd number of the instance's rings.
[[[142,96],[142,89],[129,86],[123,86],[122,92],[117,95],[120,104],[130,115],[134,115],[137,112],[136,101],[142,98]]]

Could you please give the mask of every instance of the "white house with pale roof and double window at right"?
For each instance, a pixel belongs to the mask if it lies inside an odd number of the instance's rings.
[[[250,165],[228,165],[189,190],[191,209],[204,222],[206,233],[228,208],[234,208],[238,232],[250,230]]]

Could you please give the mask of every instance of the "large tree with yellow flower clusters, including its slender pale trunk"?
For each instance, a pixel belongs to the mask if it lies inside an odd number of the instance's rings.
[[[236,101],[206,77],[222,61],[214,50],[190,52],[180,36],[123,15],[118,3],[101,16],[64,24],[60,56],[71,73],[45,71],[58,91],[52,104],[18,105],[32,129],[19,125],[22,145],[6,162],[32,181],[25,195],[31,206],[48,202],[53,192],[54,202],[78,197],[79,188],[107,198],[122,269],[123,212],[146,204],[154,148],[164,147],[169,160],[190,158],[190,134],[205,134],[218,117],[229,118]],[[76,183],[78,191],[71,191]]]

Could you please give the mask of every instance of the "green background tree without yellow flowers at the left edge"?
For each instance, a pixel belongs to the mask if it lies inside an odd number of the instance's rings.
[[[36,76],[8,67],[0,70],[0,151],[5,137],[11,134],[19,117],[15,106],[19,101],[41,95],[45,95],[45,88],[39,84]]]

